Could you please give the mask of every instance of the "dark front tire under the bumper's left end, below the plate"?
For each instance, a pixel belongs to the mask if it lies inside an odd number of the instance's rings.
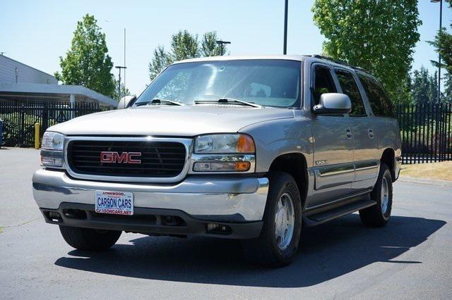
[[[79,250],[105,250],[113,246],[121,231],[59,226],[59,231],[69,246]]]

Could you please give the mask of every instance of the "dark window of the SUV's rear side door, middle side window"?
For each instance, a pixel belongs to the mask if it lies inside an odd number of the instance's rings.
[[[338,76],[342,92],[349,96],[350,101],[352,101],[352,111],[350,111],[350,116],[365,116],[366,110],[364,109],[362,96],[359,93],[358,86],[356,85],[355,78],[353,78],[352,73],[345,70],[335,70],[335,73]]]

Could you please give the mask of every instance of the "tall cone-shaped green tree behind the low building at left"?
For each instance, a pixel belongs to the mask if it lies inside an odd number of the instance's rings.
[[[64,85],[83,85],[114,96],[113,63],[107,53],[105,34],[100,32],[94,16],[86,14],[77,23],[66,58],[59,58],[61,73],[56,72],[55,77]]]

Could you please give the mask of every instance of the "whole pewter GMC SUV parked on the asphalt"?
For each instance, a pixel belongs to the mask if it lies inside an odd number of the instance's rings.
[[[169,65],[116,111],[49,127],[33,195],[76,249],[121,232],[243,239],[287,265],[302,227],[359,211],[383,226],[400,130],[369,73],[322,56]]]

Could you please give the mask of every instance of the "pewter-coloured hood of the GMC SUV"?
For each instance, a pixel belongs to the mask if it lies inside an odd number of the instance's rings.
[[[291,109],[242,106],[141,106],[83,115],[49,127],[65,135],[195,136],[237,132],[266,120],[294,118]]]

